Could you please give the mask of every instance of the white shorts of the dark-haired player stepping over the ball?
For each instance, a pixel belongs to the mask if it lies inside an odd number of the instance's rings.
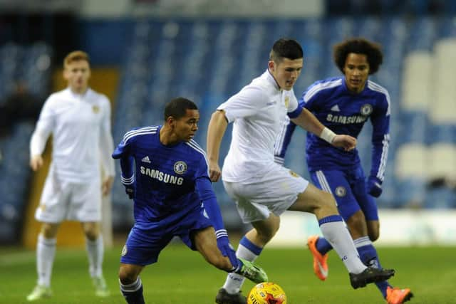
[[[223,182],[225,191],[236,201],[244,223],[267,219],[272,212],[280,216],[294,204],[309,185],[306,179],[275,164],[268,174],[249,182]]]

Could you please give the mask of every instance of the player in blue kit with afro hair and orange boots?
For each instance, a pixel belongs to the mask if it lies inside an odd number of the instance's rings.
[[[378,210],[372,196],[382,193],[390,142],[390,96],[368,80],[383,61],[380,46],[363,38],[353,38],[334,46],[334,61],[343,76],[318,80],[302,95],[299,103],[314,113],[323,125],[338,134],[358,137],[370,119],[373,125],[372,167],[366,182],[358,151],[341,150],[318,136],[307,133],[306,159],[312,181],[333,194],[338,211],[348,226],[363,263],[381,268],[373,241],[379,236]],[[283,163],[286,148],[296,125],[289,122],[275,146],[275,158]],[[331,244],[311,236],[308,246],[314,256],[314,272],[324,281],[328,276]],[[403,303],[413,296],[409,288],[393,288],[387,281],[375,283],[390,304]]]

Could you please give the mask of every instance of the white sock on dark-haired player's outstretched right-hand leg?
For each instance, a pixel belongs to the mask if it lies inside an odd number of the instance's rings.
[[[320,225],[326,241],[331,243],[349,273],[362,273],[366,265],[361,262],[355,244],[342,221],[330,221]]]

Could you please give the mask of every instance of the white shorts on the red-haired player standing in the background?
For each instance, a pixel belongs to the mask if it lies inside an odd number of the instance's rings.
[[[49,172],[41,194],[35,219],[45,223],[101,220],[101,182],[76,183],[62,181]]]

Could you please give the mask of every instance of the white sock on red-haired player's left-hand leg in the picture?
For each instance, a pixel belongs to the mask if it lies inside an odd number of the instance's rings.
[[[38,234],[36,244],[36,271],[38,272],[38,285],[51,286],[52,265],[56,256],[56,239],[45,239]]]

